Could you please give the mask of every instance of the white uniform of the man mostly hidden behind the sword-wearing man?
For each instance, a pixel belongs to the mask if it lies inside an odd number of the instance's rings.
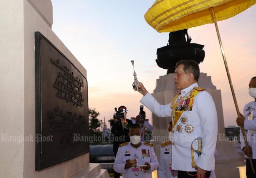
[[[177,178],[178,172],[171,168],[171,141],[161,144],[158,178]]]

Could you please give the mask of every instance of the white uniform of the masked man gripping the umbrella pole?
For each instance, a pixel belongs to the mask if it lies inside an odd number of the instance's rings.
[[[247,130],[247,142],[252,147],[252,159],[256,159],[256,102],[249,102],[243,109],[244,129]],[[241,149],[245,146],[243,134],[240,129]],[[244,157],[248,158],[246,155]]]

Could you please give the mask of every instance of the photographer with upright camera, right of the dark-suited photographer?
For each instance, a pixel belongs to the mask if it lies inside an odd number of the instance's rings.
[[[150,141],[151,139],[151,135],[152,135],[152,130],[153,130],[153,126],[150,125],[150,123],[148,122],[148,119],[146,119],[146,113],[145,111],[143,111],[143,105],[140,106],[140,112],[139,114],[136,116],[136,118],[132,118],[132,123],[137,123],[141,126],[141,141]]]

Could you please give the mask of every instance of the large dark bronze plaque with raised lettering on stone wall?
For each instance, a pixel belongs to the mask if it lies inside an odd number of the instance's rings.
[[[35,84],[35,169],[89,152],[87,80],[40,32],[35,32]]]

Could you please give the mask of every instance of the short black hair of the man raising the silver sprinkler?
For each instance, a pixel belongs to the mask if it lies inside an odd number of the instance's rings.
[[[200,76],[200,69],[198,64],[194,60],[180,60],[176,63],[175,68],[177,68],[179,65],[183,64],[183,70],[185,73],[193,73],[194,79],[198,81]]]

